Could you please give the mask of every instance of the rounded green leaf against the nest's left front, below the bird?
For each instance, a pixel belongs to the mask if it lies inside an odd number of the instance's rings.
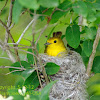
[[[56,74],[60,69],[60,66],[55,63],[49,62],[45,65],[45,70],[48,75]]]

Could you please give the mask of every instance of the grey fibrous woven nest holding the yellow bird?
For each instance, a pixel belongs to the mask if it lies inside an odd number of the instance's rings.
[[[62,58],[45,54],[40,57],[43,62],[54,62],[60,66],[59,72],[50,76],[52,80],[58,80],[51,89],[50,100],[87,100],[86,69],[78,53],[71,51]]]

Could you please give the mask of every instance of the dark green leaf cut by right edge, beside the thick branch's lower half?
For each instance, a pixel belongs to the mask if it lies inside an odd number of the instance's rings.
[[[94,58],[92,71],[94,73],[100,73],[100,56]]]

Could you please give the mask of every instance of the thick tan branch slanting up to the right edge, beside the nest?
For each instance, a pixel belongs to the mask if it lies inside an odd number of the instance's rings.
[[[95,57],[96,48],[98,46],[99,40],[100,40],[100,24],[98,26],[97,35],[96,35],[96,38],[95,38],[94,43],[93,43],[92,54],[91,54],[91,56],[89,58],[89,62],[88,62],[88,66],[87,66],[86,74],[88,76],[90,76],[90,73],[91,73],[91,69],[92,69],[92,65],[93,65],[93,60],[94,60],[94,57]]]

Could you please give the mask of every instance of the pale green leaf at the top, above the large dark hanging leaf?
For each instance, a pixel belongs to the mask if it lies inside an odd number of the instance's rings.
[[[88,8],[85,2],[78,1],[73,4],[73,10],[75,13],[82,15],[83,17],[87,17]]]

